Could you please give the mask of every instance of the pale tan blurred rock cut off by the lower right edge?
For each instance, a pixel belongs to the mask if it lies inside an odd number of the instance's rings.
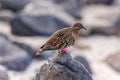
[[[120,73],[120,52],[108,56],[104,61],[115,71]]]

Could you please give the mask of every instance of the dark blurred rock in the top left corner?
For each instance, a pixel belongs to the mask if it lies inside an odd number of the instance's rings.
[[[2,8],[7,8],[12,11],[19,11],[27,5],[30,0],[0,0]]]

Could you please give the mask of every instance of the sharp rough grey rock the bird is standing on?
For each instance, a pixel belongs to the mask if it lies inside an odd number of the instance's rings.
[[[93,80],[85,67],[69,54],[56,54],[44,64],[36,80]]]

